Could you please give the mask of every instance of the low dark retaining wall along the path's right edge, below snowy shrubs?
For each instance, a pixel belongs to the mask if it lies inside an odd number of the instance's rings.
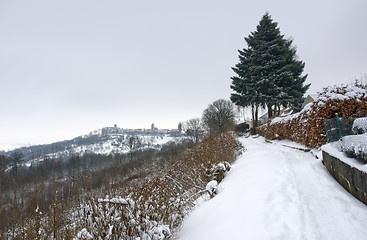
[[[330,174],[349,193],[367,205],[367,173],[322,151],[323,161]]]

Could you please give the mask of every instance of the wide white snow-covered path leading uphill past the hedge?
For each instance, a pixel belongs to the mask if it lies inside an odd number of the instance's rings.
[[[179,239],[367,239],[367,206],[311,153],[241,139],[247,151],[220,193],[185,221]]]

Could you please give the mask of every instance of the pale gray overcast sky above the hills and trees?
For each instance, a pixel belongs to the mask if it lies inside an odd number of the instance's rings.
[[[0,1],[0,147],[105,126],[176,128],[228,99],[237,49],[265,12],[310,93],[367,72],[367,1]]]

